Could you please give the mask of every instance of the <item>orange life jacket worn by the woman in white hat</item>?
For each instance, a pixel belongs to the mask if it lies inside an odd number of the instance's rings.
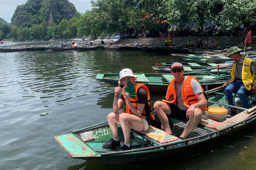
[[[150,114],[148,113],[149,116],[150,116],[153,120],[155,120],[155,117],[154,117],[153,113],[151,112],[151,101],[150,101],[150,95],[149,95],[149,90],[148,90],[147,86],[145,86],[145,84],[140,84],[140,83],[135,83],[135,84],[133,84],[133,86],[134,86],[135,91],[136,91],[136,98],[135,98],[135,99],[130,98],[130,101],[131,101],[132,105],[133,105],[135,108],[137,108],[137,106],[138,106],[138,101],[139,101],[139,98],[138,98],[138,96],[137,96],[137,91],[138,91],[138,89],[139,89],[140,87],[142,87],[144,90],[146,90],[146,92],[147,92],[147,94],[148,94],[148,104],[146,104],[145,107],[148,107],[148,112],[150,113]],[[125,88],[125,87],[123,87],[123,90],[124,90],[124,88]],[[124,95],[123,95],[123,96],[124,96]],[[146,113],[146,111],[145,111],[145,107],[144,107],[144,109],[143,109],[142,114],[141,114],[140,117],[146,119],[146,114],[147,114],[147,113]],[[131,108],[130,108],[127,104],[126,104],[126,113],[132,114]]]

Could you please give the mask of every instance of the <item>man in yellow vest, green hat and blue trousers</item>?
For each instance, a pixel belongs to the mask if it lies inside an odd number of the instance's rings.
[[[246,93],[251,90],[252,93],[256,92],[256,85],[254,84],[254,73],[256,72],[256,64],[250,58],[247,58],[240,54],[242,49],[234,46],[228,49],[228,56],[234,61],[233,68],[231,70],[232,78],[223,84],[225,94],[229,105],[233,105],[233,92],[237,92],[237,95],[242,103],[243,108],[249,108],[249,102],[247,100]],[[236,109],[230,108],[227,117],[233,117],[236,115]]]

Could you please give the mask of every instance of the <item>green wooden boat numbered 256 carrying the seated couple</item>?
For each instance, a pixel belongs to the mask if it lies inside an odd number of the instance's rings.
[[[208,95],[210,106],[229,106],[226,104],[227,101],[223,100],[225,98],[223,98],[225,96],[223,92],[213,91]],[[244,110],[241,107],[237,108]],[[195,154],[195,151],[202,150],[203,146],[209,146],[210,142],[213,146],[214,143],[218,143],[218,140],[227,138],[228,134],[244,130],[246,126],[256,122],[255,110],[256,106],[223,122],[211,120],[204,114],[201,123],[188,135],[186,140],[177,137],[181,135],[187,122],[175,118],[169,118],[173,135],[153,126],[150,126],[145,134],[131,130],[132,150],[126,151],[120,151],[120,148],[111,150],[102,148],[103,143],[113,138],[108,122],[71,131],[53,137],[53,139],[71,158],[118,165],[149,164],[152,161],[161,163],[161,159],[164,157],[168,156],[171,159],[180,159],[185,155],[187,157],[190,153]],[[122,146],[124,135],[120,125],[118,125],[118,135]],[[157,135],[157,138],[154,138],[154,135]],[[179,143],[183,143],[183,145],[179,146]],[[184,154],[185,152],[186,154]]]

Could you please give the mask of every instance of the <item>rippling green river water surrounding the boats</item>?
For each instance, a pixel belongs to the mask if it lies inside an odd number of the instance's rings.
[[[176,60],[142,50],[0,52],[0,170],[255,169],[254,126],[179,161],[171,162],[173,155],[140,166],[72,159],[53,140],[103,122],[112,112],[115,87],[96,80],[98,73],[119,73],[124,68],[154,73],[152,66]],[[165,94],[150,96],[154,103]]]

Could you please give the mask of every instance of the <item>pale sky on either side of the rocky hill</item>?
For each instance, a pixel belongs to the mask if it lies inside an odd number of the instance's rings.
[[[0,17],[7,22],[11,22],[12,15],[18,5],[25,4],[28,0],[0,0]],[[68,0],[73,3],[76,10],[84,13],[91,10],[91,0]]]

